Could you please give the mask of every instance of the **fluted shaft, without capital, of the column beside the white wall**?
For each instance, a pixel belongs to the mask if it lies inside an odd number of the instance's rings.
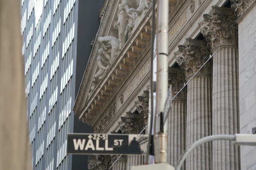
[[[239,133],[238,85],[238,48],[236,45],[221,46],[213,57],[213,135]],[[213,169],[240,169],[238,145],[225,140],[213,141],[212,145]]]

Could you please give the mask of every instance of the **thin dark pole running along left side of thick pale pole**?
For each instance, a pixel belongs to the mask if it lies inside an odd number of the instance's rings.
[[[149,123],[149,133],[148,133],[148,148],[146,154],[145,164],[148,164],[148,156],[151,148],[151,134],[152,134],[152,124],[153,124],[153,116],[154,116],[154,89],[155,84],[153,82],[153,60],[154,60],[154,42],[155,42],[155,0],[152,1],[152,25],[151,25],[151,68],[150,68],[150,119]]]

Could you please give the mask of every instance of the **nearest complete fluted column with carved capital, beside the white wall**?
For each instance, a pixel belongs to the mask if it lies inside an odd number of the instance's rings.
[[[212,15],[204,14],[201,32],[212,46],[212,135],[239,133],[238,27],[231,9],[212,6]],[[200,23],[199,23],[200,25]],[[212,142],[213,169],[240,169],[240,148],[233,142]]]

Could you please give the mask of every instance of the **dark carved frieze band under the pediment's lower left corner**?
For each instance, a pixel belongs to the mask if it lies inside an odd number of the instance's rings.
[[[115,116],[115,114],[116,114],[116,101],[113,102],[113,104],[110,106],[110,108],[106,112],[105,116],[101,119],[101,121],[95,127],[93,127],[95,133],[101,133],[106,127],[106,125]]]

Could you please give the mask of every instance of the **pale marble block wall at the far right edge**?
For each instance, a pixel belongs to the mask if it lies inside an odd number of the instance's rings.
[[[240,133],[256,127],[256,4],[238,21]],[[256,169],[256,147],[241,146],[241,170]]]

